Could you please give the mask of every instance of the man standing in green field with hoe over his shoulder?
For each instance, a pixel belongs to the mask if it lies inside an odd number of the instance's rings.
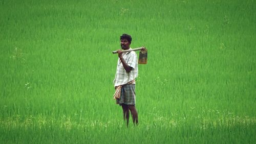
[[[120,36],[120,44],[122,50],[130,50],[132,37],[128,34]],[[134,125],[138,125],[138,113],[135,108],[135,78],[138,76],[138,60],[137,54],[132,52],[122,53],[118,50],[118,62],[114,85],[116,92],[114,99],[116,103],[122,106],[123,119],[129,124],[130,112],[133,116]]]

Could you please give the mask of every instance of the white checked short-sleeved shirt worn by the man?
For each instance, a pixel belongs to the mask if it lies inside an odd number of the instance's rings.
[[[130,71],[130,73],[127,73],[123,67],[122,62],[120,61],[120,58],[118,58],[116,76],[114,79],[115,86],[124,85],[128,82],[131,82],[132,80],[135,80],[135,78],[138,77],[137,54],[134,51],[126,52],[122,53],[122,57],[124,61],[127,63],[127,65],[132,67],[132,70]],[[135,84],[135,82],[133,84]]]

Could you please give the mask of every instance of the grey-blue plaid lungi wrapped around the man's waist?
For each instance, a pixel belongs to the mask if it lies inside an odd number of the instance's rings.
[[[120,98],[116,99],[116,104],[135,105],[135,84],[126,84],[121,87]]]

